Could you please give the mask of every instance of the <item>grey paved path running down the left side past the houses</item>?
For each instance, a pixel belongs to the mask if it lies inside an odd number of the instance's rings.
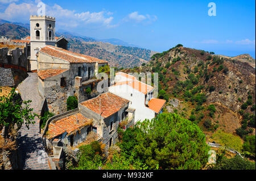
[[[40,115],[40,106],[42,98],[38,93],[38,75],[37,73],[28,73],[28,77],[20,83],[18,90],[22,96],[22,100],[32,100],[30,107],[34,109],[35,113]],[[35,124],[30,125],[27,129],[23,124],[19,131],[19,167],[20,169],[28,170],[48,170],[49,161],[48,155],[44,150],[42,144],[42,136],[39,128],[40,120],[35,118]]]

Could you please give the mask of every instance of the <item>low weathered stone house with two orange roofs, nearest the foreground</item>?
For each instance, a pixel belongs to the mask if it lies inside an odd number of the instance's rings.
[[[133,126],[134,111],[129,108],[129,100],[110,92],[85,100],[73,113],[62,113],[58,116],[59,119],[47,123],[43,133],[46,147],[52,150],[56,140],[62,142],[63,146],[75,147],[93,131],[97,134],[97,140],[105,144],[105,149],[108,150],[117,142],[119,123],[126,120],[127,127]]]

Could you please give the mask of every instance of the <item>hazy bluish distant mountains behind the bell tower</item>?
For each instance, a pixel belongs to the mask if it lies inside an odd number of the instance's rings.
[[[0,36],[10,39],[21,39],[30,35],[29,24],[12,23],[0,19]],[[59,30],[56,36],[64,36],[69,41],[68,49],[106,60],[110,66],[131,68],[150,61],[150,57],[157,53],[148,49],[136,47],[119,39],[95,39],[80,36],[77,33]]]

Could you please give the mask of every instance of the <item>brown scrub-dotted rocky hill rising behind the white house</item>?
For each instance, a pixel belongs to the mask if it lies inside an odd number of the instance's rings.
[[[231,134],[240,140],[234,141],[236,148],[245,151],[246,137],[255,138],[255,69],[247,62],[179,44],[154,54],[143,66],[122,71],[158,73],[158,96],[167,100],[164,112],[199,125],[207,141],[223,144],[228,137],[232,142]],[[234,145],[230,142],[225,144]]]

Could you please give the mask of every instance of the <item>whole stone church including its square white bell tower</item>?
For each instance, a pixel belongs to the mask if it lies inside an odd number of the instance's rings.
[[[47,110],[55,114],[67,111],[68,96],[79,103],[98,95],[98,68],[107,61],[67,50],[68,41],[56,37],[55,18],[30,16],[30,70],[38,73],[38,92],[46,99]],[[75,79],[79,83],[75,84]],[[90,88],[92,94],[85,94]]]

